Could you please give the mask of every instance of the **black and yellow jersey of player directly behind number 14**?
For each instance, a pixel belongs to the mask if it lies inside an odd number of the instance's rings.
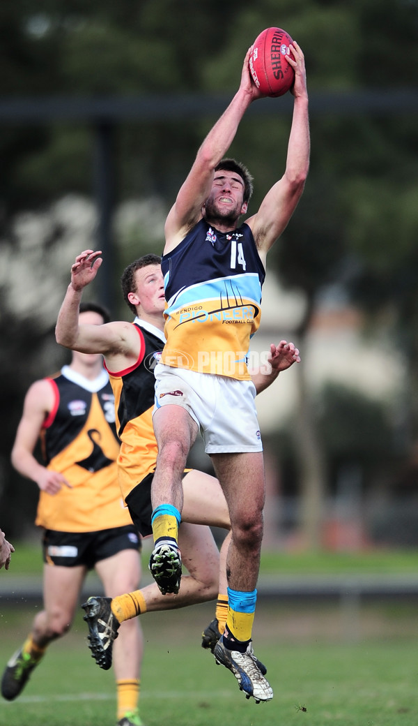
[[[124,499],[155,470],[154,367],[165,342],[164,334],[154,325],[139,318],[135,318],[133,325],[141,339],[138,360],[125,370],[108,370],[114,391],[117,434],[121,441],[117,465]]]

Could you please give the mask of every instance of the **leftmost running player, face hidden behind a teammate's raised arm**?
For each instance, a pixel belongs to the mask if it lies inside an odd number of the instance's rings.
[[[80,319],[101,327],[109,316],[101,306],[85,303]],[[43,465],[33,453],[39,437]],[[59,374],[30,386],[12,464],[40,489],[36,524],[43,527],[44,605],[4,670],[1,695],[8,701],[22,692],[49,644],[70,629],[88,570],[96,570],[109,597],[138,587],[141,543],[122,503],[119,448],[114,396],[101,355],[74,352]],[[127,622],[114,649],[118,726],[141,726],[142,654],[141,627]]]

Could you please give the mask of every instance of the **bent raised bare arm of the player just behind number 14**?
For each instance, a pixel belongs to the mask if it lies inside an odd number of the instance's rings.
[[[129,322],[80,325],[78,315],[83,290],[94,280],[102,263],[101,252],[84,250],[71,266],[71,282],[59,310],[57,343],[80,353],[101,353],[110,370],[122,370],[135,362],[140,348],[138,333]],[[137,340],[138,338],[138,340]]]

